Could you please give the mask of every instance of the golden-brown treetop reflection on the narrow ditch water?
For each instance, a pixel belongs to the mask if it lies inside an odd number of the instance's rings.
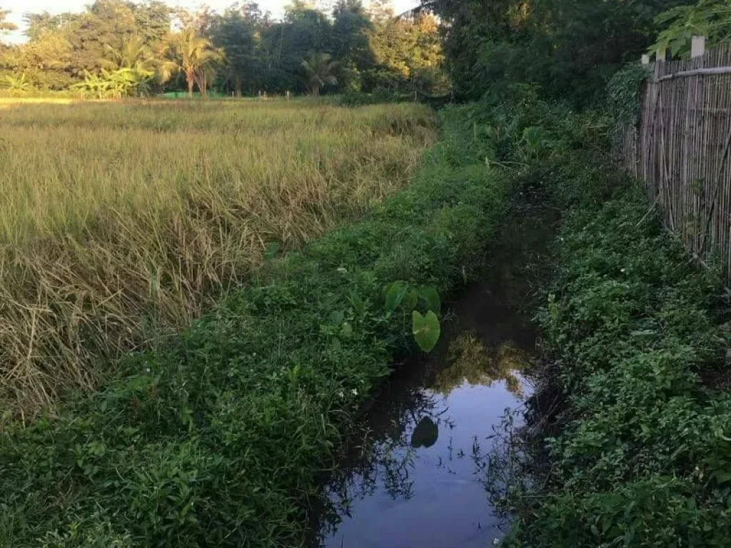
[[[449,395],[464,381],[488,387],[493,381],[505,381],[510,392],[523,395],[520,379],[515,371],[523,370],[529,365],[526,353],[509,343],[501,343],[492,350],[486,349],[472,333],[460,335],[450,343],[450,359],[453,363],[436,374],[434,389]]]

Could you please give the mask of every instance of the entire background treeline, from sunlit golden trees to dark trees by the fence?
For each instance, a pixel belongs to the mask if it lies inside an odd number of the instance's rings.
[[[13,28],[6,15],[0,33]],[[254,3],[190,13],[159,0],[96,0],[84,12],[25,18],[28,42],[0,43],[0,83],[18,93],[477,99],[524,83],[578,107],[601,100],[610,77],[648,50],[683,55],[692,34],[711,45],[731,34],[727,0],[423,0],[409,17],[394,17],[386,0],[294,0],[281,20]]]

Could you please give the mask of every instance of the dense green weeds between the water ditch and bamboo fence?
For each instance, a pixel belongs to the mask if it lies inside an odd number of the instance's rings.
[[[506,544],[727,546],[731,330],[718,278],[664,232],[640,184],[610,164],[607,125],[528,106],[516,110],[521,123],[539,128],[548,148],[523,156],[527,176],[564,213],[539,315],[545,381],[556,393],[547,407],[561,405],[547,439],[526,438],[537,444],[533,458],[513,446],[501,461],[518,472],[507,487],[498,478],[516,517]]]

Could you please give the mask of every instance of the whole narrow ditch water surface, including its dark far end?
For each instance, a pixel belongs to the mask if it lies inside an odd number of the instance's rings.
[[[471,548],[503,536],[483,483],[485,454],[506,409],[520,417],[531,393],[529,296],[546,221],[526,206],[485,281],[448,303],[437,349],[398,367],[376,396],[327,484],[321,546]]]

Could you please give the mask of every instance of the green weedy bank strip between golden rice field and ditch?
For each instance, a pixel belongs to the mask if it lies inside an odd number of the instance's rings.
[[[57,416],[5,424],[0,544],[305,544],[350,417],[413,346],[411,315],[386,313],[385,287],[466,283],[501,218],[506,183],[484,140],[456,131],[465,111],[447,117],[409,188],[363,221],[265,262]]]

